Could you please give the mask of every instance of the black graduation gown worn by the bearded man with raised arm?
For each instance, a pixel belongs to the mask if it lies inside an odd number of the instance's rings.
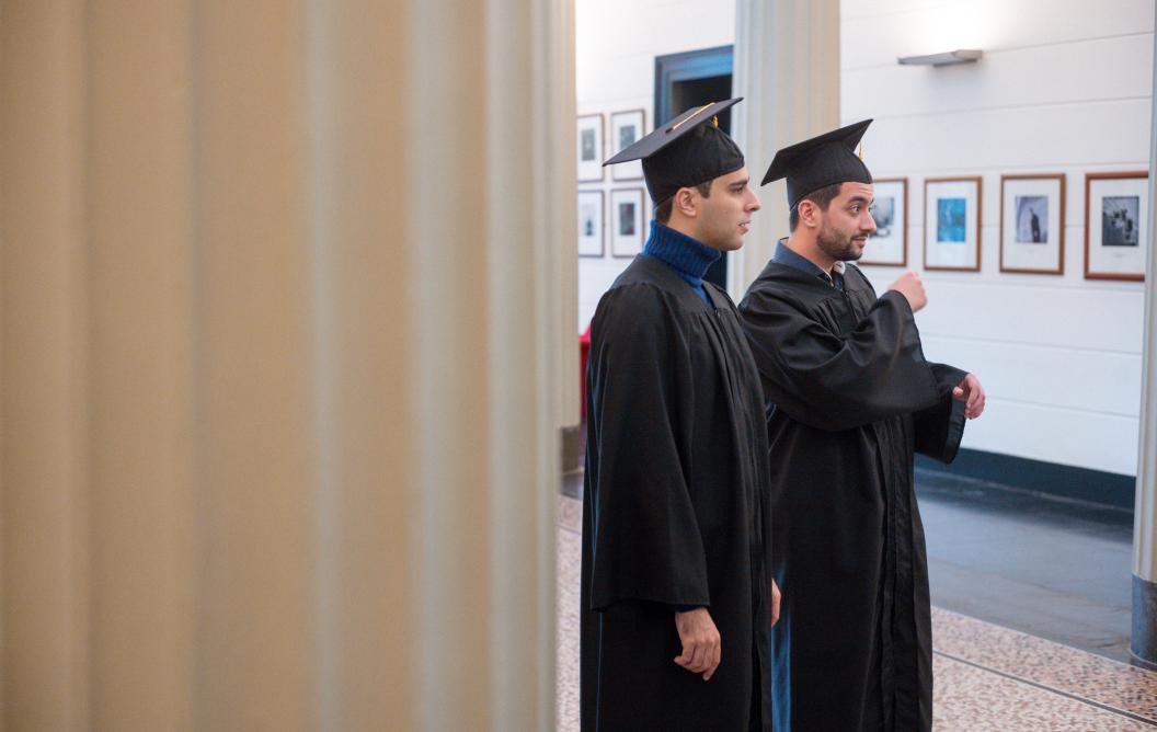
[[[778,732],[931,729],[931,619],[913,452],[956,457],[965,372],[854,266],[841,293],[771,263],[739,312],[768,401]]]

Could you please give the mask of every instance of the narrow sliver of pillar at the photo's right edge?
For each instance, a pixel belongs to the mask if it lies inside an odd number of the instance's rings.
[[[1157,37],[1154,40],[1157,50]],[[1154,61],[1154,108],[1157,120],[1157,57]],[[1141,444],[1133,528],[1133,634],[1129,650],[1140,665],[1157,670],[1157,126],[1149,138],[1149,256],[1145,258],[1145,335],[1141,378]]]

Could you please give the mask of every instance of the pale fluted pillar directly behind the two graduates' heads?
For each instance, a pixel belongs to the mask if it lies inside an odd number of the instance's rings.
[[[732,117],[736,141],[762,202],[730,269],[728,289],[739,297],[788,235],[783,184],[758,187],[772,157],[840,124],[839,0],[737,0],[734,88],[745,97]]]

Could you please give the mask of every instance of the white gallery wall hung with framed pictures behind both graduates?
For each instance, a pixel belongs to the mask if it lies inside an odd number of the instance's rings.
[[[609,123],[641,108],[648,130],[655,57],[735,38],[732,3],[580,0],[576,12],[580,114]],[[1085,279],[1084,177],[1148,169],[1154,3],[845,0],[841,12],[841,118],[875,118],[865,162],[877,177],[908,180],[907,266],[930,297],[918,317],[926,353],[977,372],[989,393],[964,445],[1135,473],[1143,284]],[[985,56],[897,64],[959,47]],[[1000,271],[1001,177],[1027,173],[1064,176],[1062,274]],[[980,268],[927,271],[924,180],[957,176],[980,177]],[[610,177],[580,190],[624,185]],[[783,195],[782,185],[759,193]],[[628,261],[580,260],[580,331]],[[882,289],[902,268],[864,272]]]

